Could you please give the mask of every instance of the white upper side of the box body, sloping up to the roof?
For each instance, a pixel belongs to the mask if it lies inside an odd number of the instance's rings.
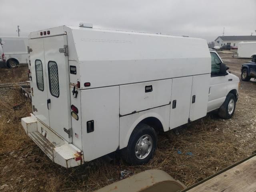
[[[80,80],[90,82],[90,88],[211,71],[207,42],[202,39],[94,28],[70,29],[80,63]],[[81,88],[86,87],[82,84]]]

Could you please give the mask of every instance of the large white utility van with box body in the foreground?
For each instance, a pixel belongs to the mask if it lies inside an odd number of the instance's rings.
[[[64,167],[117,150],[146,163],[156,132],[218,108],[231,118],[238,99],[239,78],[199,38],[81,24],[32,32],[29,52],[33,114],[22,126]]]

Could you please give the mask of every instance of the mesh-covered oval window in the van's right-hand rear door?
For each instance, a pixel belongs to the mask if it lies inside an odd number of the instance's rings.
[[[54,61],[48,62],[48,76],[49,76],[50,93],[54,97],[59,97],[60,89],[59,89],[59,78],[58,78],[58,66]]]

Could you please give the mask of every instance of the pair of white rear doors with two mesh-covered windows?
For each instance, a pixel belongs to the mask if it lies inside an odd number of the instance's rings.
[[[66,35],[29,40],[34,114],[68,142],[71,128],[68,56],[59,51]],[[45,130],[41,130],[44,133]]]

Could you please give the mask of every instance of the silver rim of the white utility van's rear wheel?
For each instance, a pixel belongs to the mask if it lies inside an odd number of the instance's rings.
[[[150,135],[143,135],[136,143],[135,156],[138,159],[146,158],[152,150],[153,140]]]

